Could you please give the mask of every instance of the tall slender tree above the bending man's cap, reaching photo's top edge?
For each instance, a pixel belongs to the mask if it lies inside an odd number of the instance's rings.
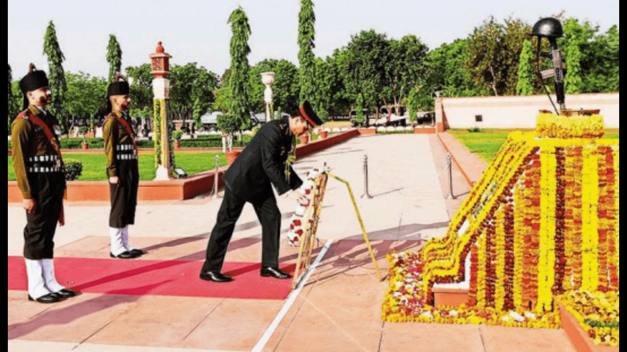
[[[308,100],[317,110],[315,89],[315,14],[311,0],[300,0],[298,13],[298,75],[300,76],[300,105]]]

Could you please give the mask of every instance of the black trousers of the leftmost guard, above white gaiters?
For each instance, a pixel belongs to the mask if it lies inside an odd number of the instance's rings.
[[[34,172],[28,173],[27,177],[35,210],[33,214],[26,212],[24,258],[52,259],[55,249],[53,237],[63,205],[65,176],[63,172]]]

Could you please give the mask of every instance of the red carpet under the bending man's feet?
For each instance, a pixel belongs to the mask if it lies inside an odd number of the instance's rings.
[[[135,296],[285,299],[292,280],[259,276],[261,264],[225,262],[222,272],[231,282],[211,282],[198,276],[201,261],[144,261],[56,257],[56,280],[78,292]],[[280,266],[293,274],[294,264]],[[9,290],[28,288],[23,257],[9,256]]]

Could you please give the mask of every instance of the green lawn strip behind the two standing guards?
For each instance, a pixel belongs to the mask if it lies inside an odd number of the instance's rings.
[[[105,163],[107,158],[103,154],[63,154],[64,159],[76,159],[83,162],[83,172],[80,181],[104,181],[107,180],[105,173]],[[216,167],[216,153],[177,153],[175,154],[176,165],[181,167],[187,175],[194,175],[199,172],[214,170]],[[155,178],[154,156],[150,154],[139,155],[139,179],[152,180]],[[219,153],[219,165],[226,165],[226,158],[223,153]],[[13,156],[9,155],[7,163],[8,179],[15,180],[13,171]]]

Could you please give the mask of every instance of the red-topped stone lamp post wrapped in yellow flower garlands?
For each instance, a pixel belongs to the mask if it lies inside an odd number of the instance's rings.
[[[170,74],[169,60],[171,54],[165,53],[161,41],[157,43],[157,49],[150,54],[150,74],[155,76],[152,80],[152,91],[154,92],[154,132],[155,132],[155,160],[161,155],[160,160],[155,161],[157,173],[155,180],[172,179],[171,158],[170,158],[170,137],[168,133],[169,121],[167,118],[167,100],[169,100],[170,81],[167,76]],[[159,118],[157,118],[159,111]],[[158,121],[161,120],[161,121]],[[159,123],[159,125],[157,125]],[[156,135],[159,131],[159,135]]]

